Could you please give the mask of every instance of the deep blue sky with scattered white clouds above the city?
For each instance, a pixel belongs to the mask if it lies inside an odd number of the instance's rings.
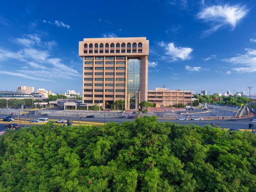
[[[256,93],[255,0],[1,1],[0,90],[82,91],[78,41],[147,37],[149,89]]]

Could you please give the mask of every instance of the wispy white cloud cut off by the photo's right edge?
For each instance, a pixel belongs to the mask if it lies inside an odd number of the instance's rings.
[[[234,71],[241,73],[256,72],[256,50],[247,48],[245,51],[245,54],[238,54],[237,57],[223,59],[223,61],[239,65],[232,68]]]

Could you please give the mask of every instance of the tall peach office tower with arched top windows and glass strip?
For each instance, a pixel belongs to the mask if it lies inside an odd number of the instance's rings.
[[[147,100],[149,40],[140,38],[84,38],[83,103],[109,108],[124,100],[126,109],[138,109]]]

